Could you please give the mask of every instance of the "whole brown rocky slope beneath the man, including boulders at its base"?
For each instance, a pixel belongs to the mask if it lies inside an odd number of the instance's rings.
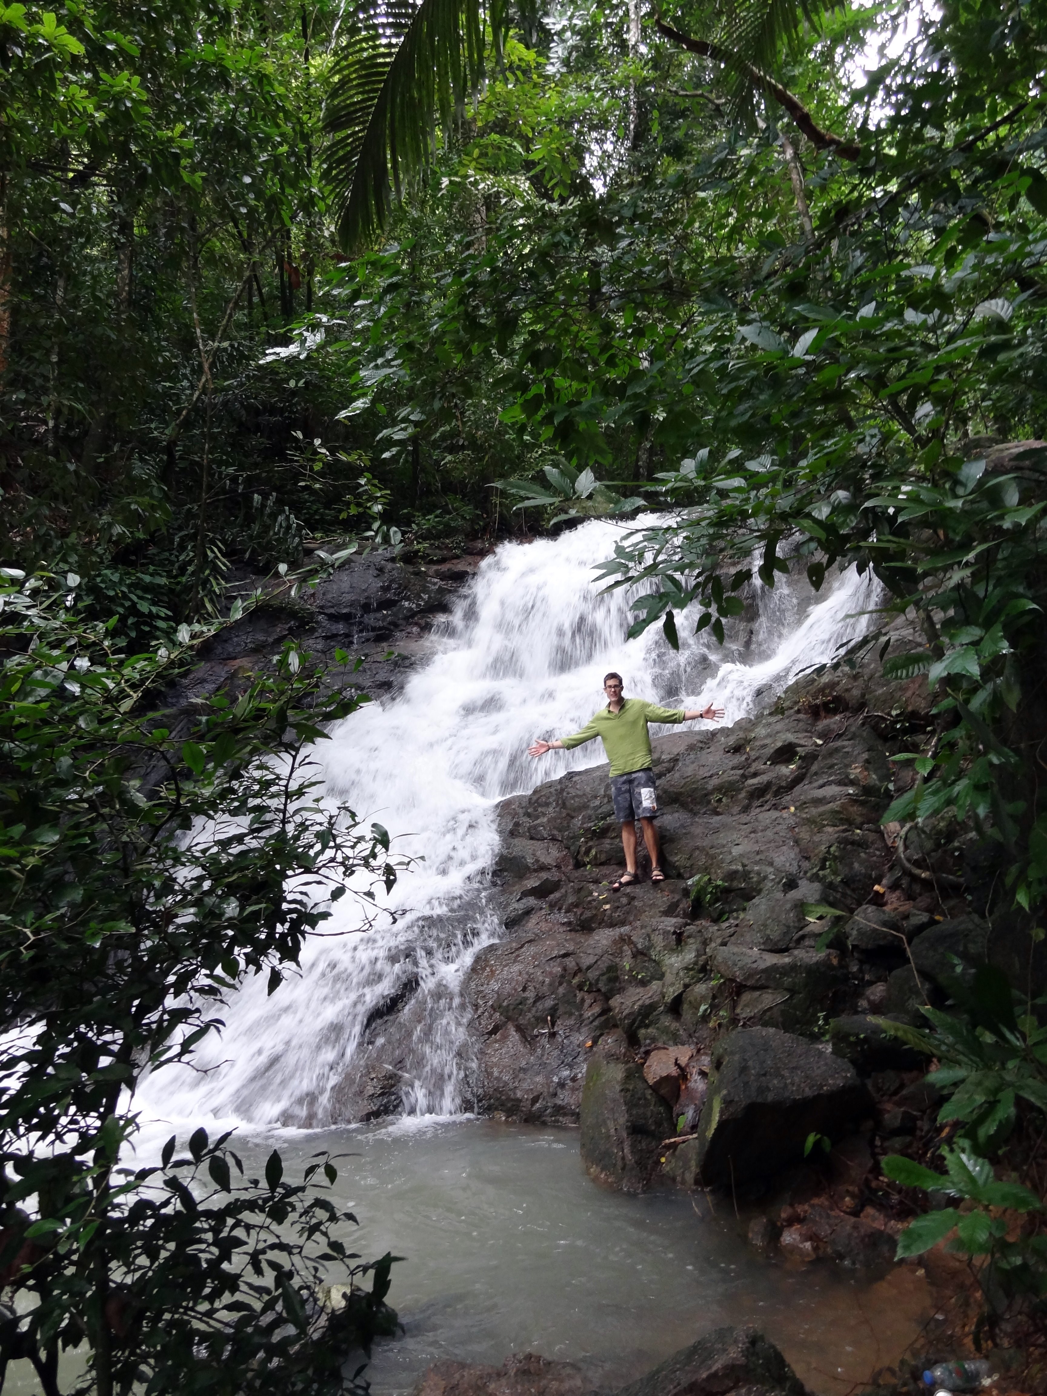
[[[920,1020],[956,962],[1013,970],[1020,944],[998,917],[990,938],[984,845],[948,819],[923,843],[881,825],[912,780],[892,758],[930,723],[923,677],[889,684],[875,664],[730,729],[658,737],[669,877],[617,893],[606,766],[504,801],[505,938],[466,983],[477,1107],[581,1122],[610,1187],[776,1188],[754,1244],[889,1259],[877,1163],[919,1153],[940,1100],[875,1019]]]

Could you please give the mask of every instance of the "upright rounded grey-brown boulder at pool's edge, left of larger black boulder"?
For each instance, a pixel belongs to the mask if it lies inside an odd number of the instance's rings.
[[[641,1192],[662,1141],[673,1134],[673,1111],[644,1079],[621,1033],[609,1033],[589,1058],[582,1087],[581,1152],[595,1182]]]

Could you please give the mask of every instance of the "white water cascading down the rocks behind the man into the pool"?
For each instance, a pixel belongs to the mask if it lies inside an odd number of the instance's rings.
[[[198,1048],[197,1069],[169,1068],[144,1083],[145,1114],[338,1122],[360,1037],[398,997],[410,998],[415,1025],[402,1072],[408,1113],[456,1113],[466,1032],[459,988],[477,949],[500,934],[483,895],[497,849],[494,804],[603,761],[599,743],[540,761],[528,744],[582,726],[609,669],[621,671],[627,694],[690,708],[715,701],[725,722],[737,722],[866,628],[857,613],[872,604],[872,584],[850,570],[818,596],[803,577],[762,591],[744,649],[720,649],[706,630],[681,637],[677,653],[658,625],[630,641],[627,593],[600,596],[592,581],[618,536],[589,522],[557,539],[503,544],[403,694],[355,713],[321,745],[329,793],[364,824],[384,824],[398,852],[424,860],[389,898],[398,919],[310,942],[302,976],[272,997],[265,976],[248,979],[221,1039]],[[327,928],[350,931],[355,914],[346,898]]]

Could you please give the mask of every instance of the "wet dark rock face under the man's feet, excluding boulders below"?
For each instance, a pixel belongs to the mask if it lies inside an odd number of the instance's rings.
[[[815,948],[825,924],[804,907],[856,910],[889,863],[875,732],[789,712],[653,745],[664,884],[610,889],[623,853],[604,766],[501,805],[508,934],[466,987],[483,1110],[574,1121],[586,1043],[613,1029],[637,1047],[723,1020],[814,1032],[864,987],[845,948]]]

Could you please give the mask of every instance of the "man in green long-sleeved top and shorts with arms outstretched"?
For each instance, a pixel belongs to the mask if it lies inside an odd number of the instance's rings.
[[[607,706],[600,708],[586,722],[581,732],[571,737],[557,737],[553,741],[540,738],[528,747],[532,757],[544,757],[554,747],[570,751],[581,747],[593,737],[600,737],[603,750],[611,764],[611,797],[614,800],[614,818],[621,825],[621,846],[625,849],[625,872],[613,884],[613,889],[620,892],[623,886],[632,886],[639,882],[637,872],[637,819],[644,829],[644,842],[651,854],[651,881],[664,882],[662,871],[662,846],[655,828],[658,814],[658,799],[655,793],[655,772],[651,769],[651,736],[649,722],[691,722],[704,718],[715,722],[723,716],[723,708],[713,708],[712,704],[705,712],[684,712],[683,708],[659,708],[644,698],[623,698],[621,674],[606,674],[603,691],[607,694]]]

